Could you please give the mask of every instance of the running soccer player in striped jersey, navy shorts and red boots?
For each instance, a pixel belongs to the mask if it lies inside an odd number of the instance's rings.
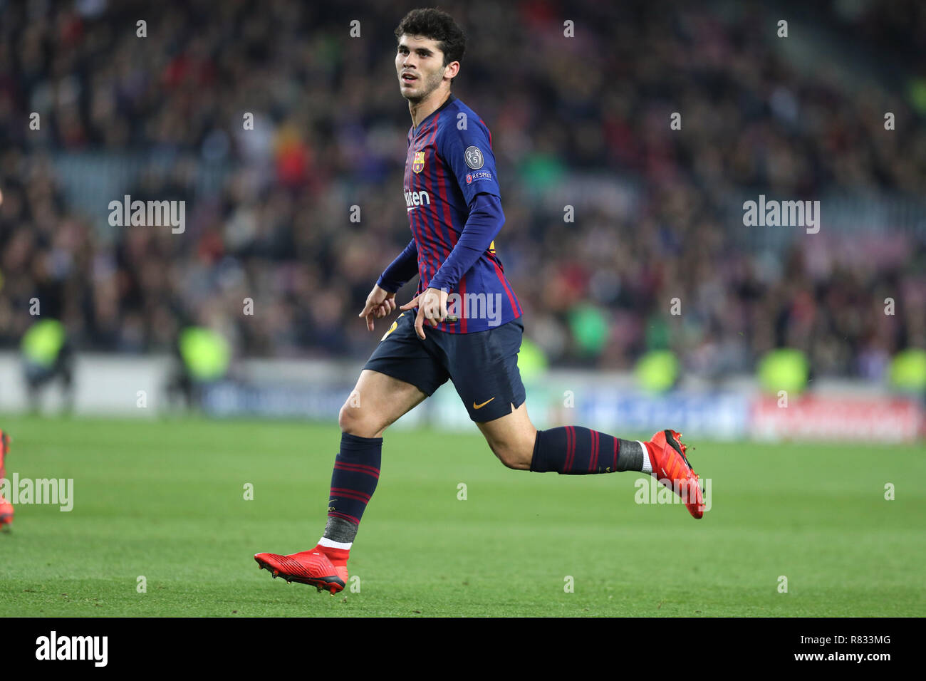
[[[701,488],[680,434],[665,430],[638,442],[582,426],[533,426],[518,371],[521,308],[494,246],[505,216],[492,135],[450,92],[466,39],[436,9],[409,12],[395,37],[399,92],[412,120],[404,180],[412,239],[382,272],[359,316],[373,331],[415,274],[418,291],[399,308],[341,409],[341,450],[318,545],[285,556],[258,553],[258,566],[319,591],[343,589],[357,527],[380,477],[382,434],[447,379],[508,468],[652,473],[700,518]]]

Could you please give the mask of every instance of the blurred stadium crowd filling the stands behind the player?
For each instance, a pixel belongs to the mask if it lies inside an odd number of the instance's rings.
[[[786,11],[609,5],[444,7],[468,33],[455,93],[493,132],[507,216],[496,246],[528,336],[554,362],[608,369],[668,345],[708,377],[788,346],[818,375],[875,379],[895,351],[926,347],[921,233],[802,235],[770,253],[728,215],[744,192],[921,195],[922,6],[819,5],[842,48],[907,69],[872,86],[785,58]],[[409,238],[392,32],[412,6],[0,0],[0,347],[19,342],[37,297],[78,349],[163,350],[201,322],[239,356],[365,358],[382,332],[357,312]],[[76,208],[56,158],[87,151],[150,160],[128,193],[186,200],[185,232],[112,231],[105,206]],[[197,188],[203,168],[221,170],[218,191]],[[631,187],[632,210],[593,201],[564,222],[542,200],[589,177]]]

